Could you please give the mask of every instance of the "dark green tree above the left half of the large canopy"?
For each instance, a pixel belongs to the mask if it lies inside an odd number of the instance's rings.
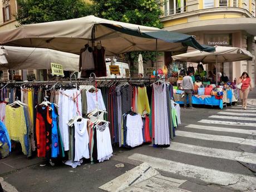
[[[90,4],[83,0],[17,0],[19,24],[43,23],[84,17]]]

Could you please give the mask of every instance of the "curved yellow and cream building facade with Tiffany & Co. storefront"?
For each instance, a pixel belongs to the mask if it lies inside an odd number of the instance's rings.
[[[204,45],[240,47],[254,55],[255,0],[167,0],[163,12],[161,22],[168,31],[194,35]],[[214,67],[206,65],[211,72]],[[255,84],[254,60],[218,63],[217,70],[230,81],[247,71]]]

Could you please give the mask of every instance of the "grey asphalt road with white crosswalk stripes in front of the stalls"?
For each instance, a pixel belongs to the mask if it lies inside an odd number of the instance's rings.
[[[15,152],[0,160],[0,182],[6,191],[104,191],[101,185],[147,163],[166,178],[184,180],[168,191],[256,191],[253,171],[237,161],[256,164],[255,112],[256,106],[181,109],[182,124],[170,147],[115,147],[111,160],[75,169],[63,164],[41,167],[41,159]]]

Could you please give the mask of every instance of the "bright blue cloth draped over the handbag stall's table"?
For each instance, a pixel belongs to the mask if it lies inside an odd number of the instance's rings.
[[[181,98],[180,94],[174,93],[174,101],[178,104],[184,104],[184,98]],[[187,102],[189,103],[188,97],[187,97]],[[200,96],[193,95],[192,104],[219,106],[220,109],[223,109],[223,100],[216,99],[215,96],[211,96],[211,95],[200,95]]]

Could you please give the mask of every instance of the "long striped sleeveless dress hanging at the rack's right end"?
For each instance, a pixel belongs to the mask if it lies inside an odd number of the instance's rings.
[[[154,88],[154,121],[155,121],[155,144],[170,145],[168,102],[166,96],[167,85],[153,84]]]

